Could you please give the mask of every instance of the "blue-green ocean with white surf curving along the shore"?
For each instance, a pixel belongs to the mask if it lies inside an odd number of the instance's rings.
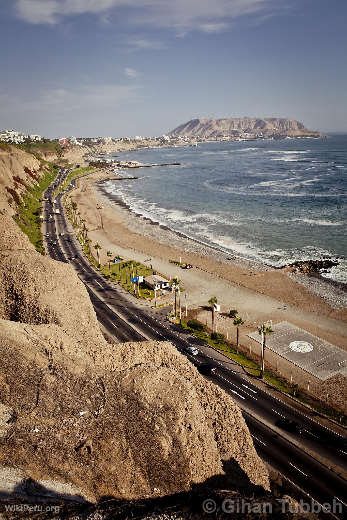
[[[105,181],[131,211],[226,253],[281,266],[337,258],[347,282],[347,134],[230,141],[108,155],[144,164]]]

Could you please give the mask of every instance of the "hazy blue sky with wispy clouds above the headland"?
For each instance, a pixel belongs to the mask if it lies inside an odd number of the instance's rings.
[[[343,0],[0,5],[0,130],[148,137],[230,114],[347,131]]]

